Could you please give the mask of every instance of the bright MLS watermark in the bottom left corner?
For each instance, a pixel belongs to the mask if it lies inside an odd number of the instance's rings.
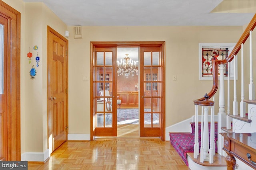
[[[28,170],[28,161],[0,161],[0,170]]]

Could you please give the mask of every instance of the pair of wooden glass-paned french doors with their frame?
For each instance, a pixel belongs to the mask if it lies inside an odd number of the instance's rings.
[[[165,43],[91,42],[91,140],[116,136],[117,47],[140,48],[140,136],[165,141]],[[122,107],[122,106],[121,106]]]

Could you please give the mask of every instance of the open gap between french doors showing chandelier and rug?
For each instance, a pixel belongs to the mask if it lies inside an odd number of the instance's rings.
[[[117,137],[138,138],[139,134],[139,48],[117,47]]]

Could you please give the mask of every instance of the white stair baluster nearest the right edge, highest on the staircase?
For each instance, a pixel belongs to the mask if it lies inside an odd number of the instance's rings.
[[[252,31],[250,31],[250,84],[249,84],[249,100],[255,100],[255,87],[253,84],[252,74]]]

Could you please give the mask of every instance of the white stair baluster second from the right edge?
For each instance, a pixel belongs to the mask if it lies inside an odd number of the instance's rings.
[[[244,44],[241,44],[241,102],[240,102],[240,117],[245,117],[245,102],[244,102]]]

